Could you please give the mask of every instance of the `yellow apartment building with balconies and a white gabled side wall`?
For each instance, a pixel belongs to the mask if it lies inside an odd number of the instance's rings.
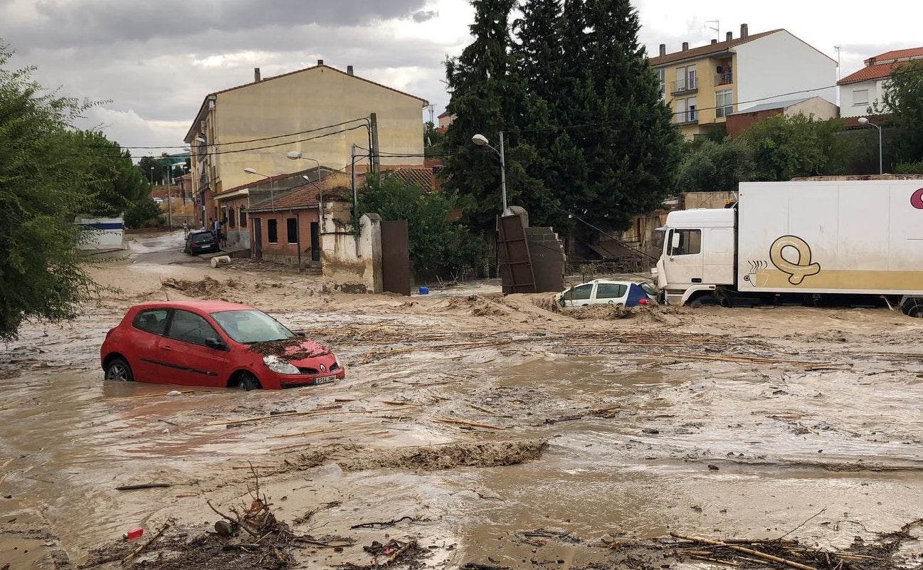
[[[691,139],[725,131],[727,115],[773,101],[820,96],[835,103],[836,62],[787,30],[740,37],[728,31],[724,42],[660,53],[648,63],[660,80],[661,96],[673,110],[673,121]]]

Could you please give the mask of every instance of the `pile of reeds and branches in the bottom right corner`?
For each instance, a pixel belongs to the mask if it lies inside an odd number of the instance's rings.
[[[883,534],[871,543],[858,539],[846,551],[831,551],[810,547],[797,540],[714,540],[670,533],[679,540],[674,555],[725,566],[796,568],[797,570],[893,570],[921,568],[923,564],[907,564],[898,556],[901,545],[917,540],[910,528],[923,523],[917,519],[900,530]]]

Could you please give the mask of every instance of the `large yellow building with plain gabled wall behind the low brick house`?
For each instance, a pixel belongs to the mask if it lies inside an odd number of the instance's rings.
[[[206,225],[232,219],[231,211],[247,207],[248,184],[312,169],[314,160],[366,170],[369,148],[382,168],[422,165],[427,104],[356,77],[352,65],[344,72],[318,60],[276,77],[260,77],[257,68],[252,83],[207,95],[186,133],[197,214]],[[290,151],[311,160],[290,160]],[[248,246],[246,232],[241,238]]]

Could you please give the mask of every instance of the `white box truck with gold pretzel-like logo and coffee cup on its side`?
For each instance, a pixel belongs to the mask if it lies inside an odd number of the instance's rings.
[[[666,304],[888,303],[923,316],[923,180],[741,183],[737,206],[670,212]]]

